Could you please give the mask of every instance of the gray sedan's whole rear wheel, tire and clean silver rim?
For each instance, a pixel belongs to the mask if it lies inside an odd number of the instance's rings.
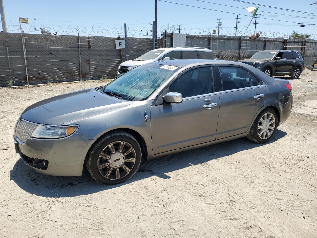
[[[254,120],[247,138],[257,143],[266,143],[275,134],[278,118],[274,109],[264,109]]]

